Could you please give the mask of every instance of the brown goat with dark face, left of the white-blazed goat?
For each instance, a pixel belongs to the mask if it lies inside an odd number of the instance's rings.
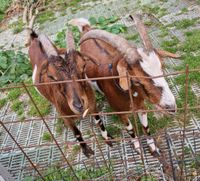
[[[95,95],[88,82],[77,82],[84,79],[85,61],[74,49],[72,35],[68,34],[68,52],[65,59],[58,55],[57,48],[44,36],[30,32],[29,56],[33,69],[34,83],[50,83],[55,81],[73,80],[72,82],[51,85],[38,85],[37,90],[48,99],[62,116],[85,114],[96,111]],[[99,119],[99,116],[96,116]],[[63,118],[64,125],[69,127],[79,142],[84,141],[81,132],[75,125],[75,118]],[[83,153],[89,157],[93,153],[86,143],[80,143]]]

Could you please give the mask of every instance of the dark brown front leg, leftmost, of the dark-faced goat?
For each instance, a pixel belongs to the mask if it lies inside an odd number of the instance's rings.
[[[92,151],[92,149],[86,143],[82,143],[84,141],[82,134],[79,131],[79,129],[76,127],[74,121],[73,120],[69,121],[67,119],[67,120],[64,120],[64,124],[65,124],[65,126],[69,127],[73,131],[74,136],[76,137],[77,141],[80,142],[80,146],[81,146],[81,149],[82,149],[84,155],[88,158],[91,155],[94,155],[94,152]]]

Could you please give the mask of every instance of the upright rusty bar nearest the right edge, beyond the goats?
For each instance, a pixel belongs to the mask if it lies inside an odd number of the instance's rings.
[[[181,179],[183,178],[183,164],[184,163],[184,157],[185,157],[185,152],[184,152],[184,143],[185,143],[185,129],[186,129],[186,121],[187,121],[187,113],[188,113],[188,82],[189,82],[189,67],[186,65],[186,70],[185,70],[185,103],[184,103],[184,117],[183,117],[183,140],[182,140],[182,163],[181,163]],[[184,178],[183,178],[184,179]]]

